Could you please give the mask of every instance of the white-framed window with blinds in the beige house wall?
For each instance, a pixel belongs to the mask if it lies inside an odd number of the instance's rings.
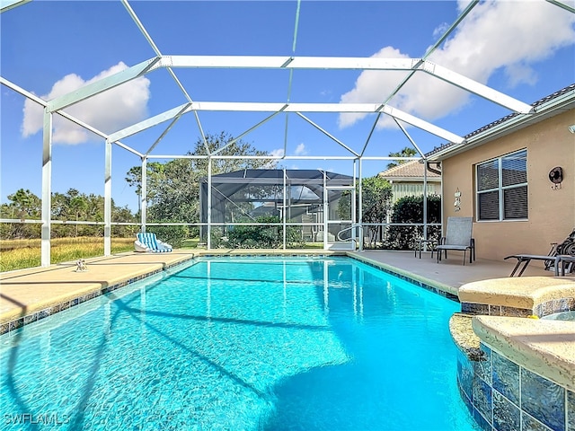
[[[527,150],[506,154],[475,167],[477,220],[527,218]]]

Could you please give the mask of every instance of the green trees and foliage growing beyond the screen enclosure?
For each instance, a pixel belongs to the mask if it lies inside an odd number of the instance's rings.
[[[218,151],[217,151],[218,150]],[[397,156],[411,155],[406,148]],[[217,151],[218,156],[235,156],[236,158],[213,158],[212,175],[234,172],[243,169],[274,168],[276,163],[266,156],[270,154],[256,150],[251,144],[234,140],[233,136],[222,132],[219,135],[207,135],[206,142],[199,138],[194,148],[186,155],[205,156]],[[247,158],[242,156],[260,156]],[[238,157],[239,156],[239,157]],[[149,223],[182,223],[198,224],[200,222],[199,189],[203,178],[208,176],[207,158],[181,158],[166,163],[151,162],[146,164],[147,216]],[[401,163],[401,162],[400,162]],[[134,166],[128,172],[126,181],[135,188],[139,197],[142,190],[141,166]],[[263,190],[251,190],[251,196],[257,196]],[[385,221],[390,207],[391,186],[386,180],[378,177],[363,181],[363,219],[366,223]],[[10,219],[40,220],[41,200],[28,189],[19,189],[8,196],[9,203],[0,206],[0,216]],[[346,207],[347,205],[347,207]],[[339,212],[348,213],[349,198],[341,199]],[[249,208],[246,208],[249,210]],[[89,221],[103,222],[104,198],[94,194],[86,195],[76,189],[66,193],[52,194],[51,219],[64,222]],[[138,214],[132,214],[128,207],[116,207],[112,200],[112,222],[137,223]],[[347,217],[346,217],[347,218]],[[134,226],[112,226],[112,235],[133,236],[137,232]],[[370,229],[371,241],[381,234],[379,227]],[[184,238],[197,236],[197,227],[189,226],[151,226],[150,231],[162,233],[164,240],[180,242]],[[0,224],[3,239],[39,238],[40,224],[3,223]],[[102,236],[103,225],[92,224],[53,224],[52,236]],[[404,236],[404,235],[401,235]],[[409,240],[406,240],[409,242]],[[393,244],[394,248],[403,248],[406,244]]]

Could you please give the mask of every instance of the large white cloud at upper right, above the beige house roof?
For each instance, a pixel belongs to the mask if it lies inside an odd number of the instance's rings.
[[[463,9],[468,2],[460,2]],[[477,4],[459,24],[442,48],[429,57],[440,66],[487,84],[502,70],[509,87],[535,84],[538,77],[530,65],[553,56],[558,48],[575,40],[575,16],[556,5],[535,1],[486,1]],[[373,57],[408,57],[393,47]],[[401,79],[401,76],[400,78]],[[381,102],[400,82],[397,73],[365,71],[341,102]],[[425,74],[414,75],[391,105],[432,120],[461,109],[469,93]],[[527,101],[529,102],[529,101]],[[365,114],[341,114],[340,128],[353,125]],[[379,128],[391,124],[386,116]]]

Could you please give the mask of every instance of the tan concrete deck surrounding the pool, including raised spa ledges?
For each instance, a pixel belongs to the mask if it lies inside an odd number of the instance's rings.
[[[105,294],[110,289],[126,286],[132,281],[206,254],[349,254],[373,265],[402,275],[409,275],[415,280],[453,295],[458,295],[460,287],[471,284],[474,289],[473,294],[469,294],[466,290],[467,286],[462,289],[462,292],[465,291],[466,295],[474,295],[473,300],[480,303],[483,299],[492,302],[493,297],[500,297],[513,305],[515,301],[513,295],[505,294],[506,286],[515,286],[514,288],[519,293],[531,292],[531,294],[517,295],[517,302],[525,303],[526,296],[542,295],[541,292],[547,289],[546,286],[557,285],[557,280],[560,279],[562,295],[572,295],[575,298],[575,277],[553,277],[553,272],[545,271],[543,265],[533,264],[526,269],[523,277],[509,278],[514,267],[513,262],[477,259],[472,264],[462,265],[462,259],[456,253],[452,253],[449,259],[442,259],[438,263],[436,259],[430,259],[429,253],[424,253],[419,259],[413,256],[413,251],[347,253],[346,251],[323,250],[201,251],[190,249],[175,250],[172,253],[127,252],[110,257],[86,259],[88,268],[86,272],[75,272],[75,262],[68,262],[52,265],[49,268],[29,268],[0,274],[0,326],[2,328],[0,333],[16,330],[22,324],[65,310],[69,306]],[[546,370],[564,370],[561,373],[562,381],[557,383],[575,391],[575,323],[553,321],[549,324],[535,319],[522,319],[517,324],[517,319],[521,318],[497,319],[495,316],[473,317],[473,319],[480,321],[475,323],[475,326],[482,328],[482,339],[497,339],[501,346],[510,346],[515,350],[518,348],[522,352],[521,356],[524,357],[522,361],[526,362],[523,365],[541,364],[543,361]],[[17,321],[20,323],[15,323]],[[471,324],[471,319],[468,321]],[[529,343],[526,343],[526,335],[529,334],[533,334],[533,337],[527,337]],[[561,342],[557,342],[558,335],[561,335]],[[553,375],[549,377],[553,378]]]

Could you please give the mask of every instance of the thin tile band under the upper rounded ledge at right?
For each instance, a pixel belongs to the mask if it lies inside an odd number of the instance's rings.
[[[502,305],[489,305],[487,303],[461,303],[461,312],[467,314],[482,314],[488,316],[537,317],[548,316],[555,312],[575,311],[575,298],[558,298],[540,303],[533,310],[528,308],[515,308]]]

